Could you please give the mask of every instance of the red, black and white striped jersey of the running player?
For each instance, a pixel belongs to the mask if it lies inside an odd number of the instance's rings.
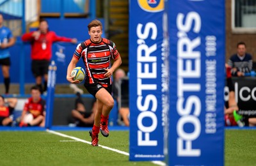
[[[74,52],[77,60],[82,57],[86,68],[84,84],[99,83],[103,87],[112,84],[111,78],[104,77],[105,69],[110,68],[111,58],[115,60],[119,56],[115,43],[106,38],[102,38],[100,43],[93,43],[91,40],[79,43]]]

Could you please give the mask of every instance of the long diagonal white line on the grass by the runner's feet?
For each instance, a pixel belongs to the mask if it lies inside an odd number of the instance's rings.
[[[72,137],[72,136],[65,135],[65,134],[59,133],[59,132],[54,132],[53,130],[46,129],[46,132],[53,133],[53,134],[59,135],[59,136],[61,136],[61,137],[65,137],[65,138],[69,138],[69,139],[74,139],[74,140],[77,140],[77,141],[80,141],[80,142],[84,142],[84,143],[86,143],[86,144],[90,144],[90,145],[92,144],[92,142],[89,142],[89,141],[87,141],[87,140],[79,139],[79,138],[77,138],[77,137]],[[101,145],[99,145],[99,147],[102,147],[102,148],[104,148],[104,149],[108,149],[108,150],[110,150],[110,151],[115,151],[116,153],[120,153],[120,154],[122,154],[122,155],[129,156],[129,153],[124,152],[124,151],[120,151],[120,150],[118,150],[118,149],[113,149],[113,148],[111,148],[111,147],[108,147],[108,146],[101,146]],[[160,162],[160,161],[152,161],[152,163],[157,164],[157,165],[161,165],[161,166],[164,166],[164,165],[165,165],[164,162]]]

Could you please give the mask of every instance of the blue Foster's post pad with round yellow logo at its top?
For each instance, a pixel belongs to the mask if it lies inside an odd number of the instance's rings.
[[[129,160],[164,160],[164,1],[130,1],[129,6]]]

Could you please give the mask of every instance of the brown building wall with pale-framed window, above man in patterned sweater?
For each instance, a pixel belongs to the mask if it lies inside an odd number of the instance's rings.
[[[226,0],[226,61],[236,53],[239,41],[256,61],[256,1]],[[255,70],[255,68],[254,68]]]

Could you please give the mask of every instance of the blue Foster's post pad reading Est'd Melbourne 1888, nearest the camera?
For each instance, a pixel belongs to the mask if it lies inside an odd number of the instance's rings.
[[[170,36],[167,164],[223,165],[225,1],[168,0],[165,6]]]

